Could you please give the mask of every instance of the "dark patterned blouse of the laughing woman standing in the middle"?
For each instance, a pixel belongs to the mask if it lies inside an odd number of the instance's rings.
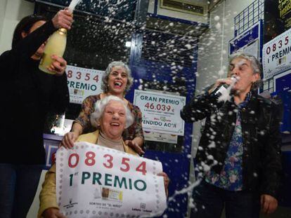
[[[75,119],[76,123],[82,125],[83,128],[82,134],[93,132],[96,130],[96,128],[94,128],[91,125],[90,115],[91,113],[93,113],[95,109],[95,104],[98,100],[101,100],[101,94],[90,95],[89,97],[86,97],[82,103],[82,110],[78,118]],[[127,107],[134,115],[134,123],[131,126],[129,126],[129,128],[124,130],[122,137],[124,141],[132,140],[135,137],[141,137],[143,139],[143,128],[141,126],[142,122],[141,110],[136,105],[131,104],[130,102],[128,102]]]

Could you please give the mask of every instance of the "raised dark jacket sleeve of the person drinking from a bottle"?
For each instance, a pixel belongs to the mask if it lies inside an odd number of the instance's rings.
[[[190,102],[181,109],[180,116],[184,121],[187,123],[200,121],[206,116],[209,116],[216,107],[219,107],[216,99],[208,93],[210,88],[211,86],[206,88],[202,95],[193,97]]]

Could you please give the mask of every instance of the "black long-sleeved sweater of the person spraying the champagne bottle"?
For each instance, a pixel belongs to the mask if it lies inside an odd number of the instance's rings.
[[[66,74],[46,74],[31,58],[54,31],[46,22],[0,56],[0,163],[43,164],[46,114],[63,113],[69,104]]]

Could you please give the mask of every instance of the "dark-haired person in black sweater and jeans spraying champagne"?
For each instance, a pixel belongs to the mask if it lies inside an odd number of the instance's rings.
[[[72,13],[60,10],[51,20],[29,15],[18,23],[12,48],[0,56],[1,217],[26,217],[45,163],[44,122],[48,112],[63,113],[69,104],[67,62],[52,55],[53,74],[39,70],[48,37],[59,28],[70,29]]]

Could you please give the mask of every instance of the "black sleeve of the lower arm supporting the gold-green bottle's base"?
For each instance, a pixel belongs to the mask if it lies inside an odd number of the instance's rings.
[[[70,104],[69,89],[67,88],[67,75],[54,76],[54,90],[51,98],[52,111],[63,114]]]

